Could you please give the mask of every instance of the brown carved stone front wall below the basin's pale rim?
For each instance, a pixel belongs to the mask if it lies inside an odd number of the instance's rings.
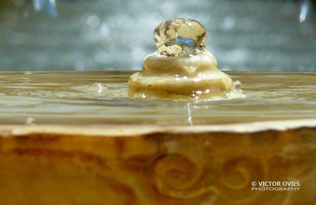
[[[255,191],[253,181],[300,189]],[[6,135],[0,204],[316,204],[316,129]]]

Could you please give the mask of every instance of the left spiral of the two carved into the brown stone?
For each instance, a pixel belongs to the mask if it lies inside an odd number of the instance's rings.
[[[163,156],[153,167],[155,187],[165,196],[191,198],[196,196],[195,185],[201,176],[201,167],[178,154]]]

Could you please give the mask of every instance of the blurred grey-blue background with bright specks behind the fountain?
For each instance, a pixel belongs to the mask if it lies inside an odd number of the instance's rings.
[[[0,0],[0,70],[141,70],[170,18],[204,25],[221,70],[316,71],[313,0]]]

